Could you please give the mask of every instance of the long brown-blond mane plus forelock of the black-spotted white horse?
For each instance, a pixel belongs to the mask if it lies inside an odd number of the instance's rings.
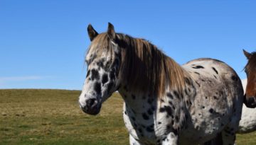
[[[174,59],[141,38],[116,33],[114,41],[121,47],[122,62],[119,73],[129,90],[146,91],[159,97],[163,97],[167,89],[183,94],[187,73]],[[107,33],[95,37],[92,43],[97,45],[97,48],[102,48],[98,49],[97,53],[107,49],[107,52],[114,55],[113,45],[110,44]]]

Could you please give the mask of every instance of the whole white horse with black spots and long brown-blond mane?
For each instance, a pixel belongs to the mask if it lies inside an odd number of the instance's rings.
[[[216,59],[194,59],[182,66],[151,42],[88,25],[91,44],[87,75],[78,103],[97,115],[119,91],[129,144],[203,144],[221,137],[234,144],[242,112],[238,74]]]

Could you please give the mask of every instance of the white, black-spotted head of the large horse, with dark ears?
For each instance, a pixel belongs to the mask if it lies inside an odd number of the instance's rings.
[[[83,112],[97,115],[102,103],[119,87],[121,48],[115,42],[116,33],[111,23],[107,33],[98,34],[92,25],[88,25],[87,31],[91,44],[85,57],[87,76],[79,104]]]

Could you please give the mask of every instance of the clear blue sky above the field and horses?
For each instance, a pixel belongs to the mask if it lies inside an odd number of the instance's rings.
[[[90,40],[100,33],[143,37],[179,64],[211,57],[241,79],[256,50],[256,1],[14,1],[0,0],[0,88],[80,90]]]

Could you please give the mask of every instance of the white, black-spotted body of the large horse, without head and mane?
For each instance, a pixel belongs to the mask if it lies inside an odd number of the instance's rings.
[[[191,76],[183,98],[178,99],[174,91],[166,91],[169,96],[155,100],[127,87],[119,90],[125,100],[124,123],[134,144],[157,144],[173,131],[180,132],[180,144],[203,144],[223,129],[226,142],[234,141],[242,105],[235,71],[214,59],[196,59],[183,68]]]

